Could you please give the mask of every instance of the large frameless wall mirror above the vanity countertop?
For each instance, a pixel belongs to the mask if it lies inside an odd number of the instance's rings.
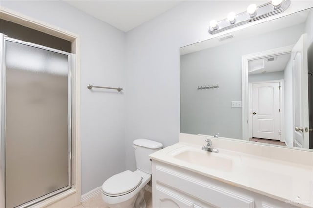
[[[313,149],[313,9],[180,49],[180,132]]]

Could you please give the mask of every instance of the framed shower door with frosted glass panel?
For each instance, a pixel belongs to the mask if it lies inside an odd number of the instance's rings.
[[[1,199],[22,208],[72,186],[73,54],[0,38]]]

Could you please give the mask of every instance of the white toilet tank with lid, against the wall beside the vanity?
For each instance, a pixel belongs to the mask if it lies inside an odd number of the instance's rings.
[[[162,143],[148,139],[136,139],[133,144],[137,169],[151,174],[149,155],[160,150],[163,146]]]

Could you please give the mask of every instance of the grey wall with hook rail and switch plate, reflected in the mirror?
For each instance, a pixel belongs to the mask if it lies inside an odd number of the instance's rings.
[[[231,107],[231,101],[241,101],[241,56],[295,44],[304,33],[304,26],[181,56],[181,132],[207,135],[219,132],[223,137],[242,139],[242,108]],[[283,78],[282,72],[278,77]],[[198,85],[216,83],[218,89],[197,90]]]

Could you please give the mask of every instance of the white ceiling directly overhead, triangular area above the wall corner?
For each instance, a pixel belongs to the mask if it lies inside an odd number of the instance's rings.
[[[180,0],[67,0],[68,4],[124,32],[177,6]]]

